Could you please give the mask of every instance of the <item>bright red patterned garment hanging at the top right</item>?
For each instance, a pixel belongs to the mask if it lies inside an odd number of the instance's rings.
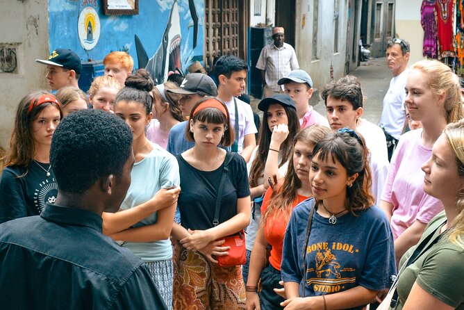
[[[455,57],[453,46],[454,0],[436,0],[438,58]]]

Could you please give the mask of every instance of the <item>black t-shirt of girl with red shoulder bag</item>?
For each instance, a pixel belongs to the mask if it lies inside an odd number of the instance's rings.
[[[231,154],[229,172],[222,191],[219,223],[233,218],[237,214],[237,199],[250,195],[247,165],[242,156]],[[224,163],[213,171],[201,171],[192,167],[181,154],[179,161],[181,175],[181,194],[179,195],[179,211],[181,225],[186,229],[205,230],[213,227],[217,190],[224,170]]]

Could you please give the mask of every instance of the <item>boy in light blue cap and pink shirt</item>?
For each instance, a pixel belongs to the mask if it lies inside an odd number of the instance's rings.
[[[310,127],[312,124],[329,127],[326,117],[314,111],[313,106],[309,105],[309,99],[313,97],[313,79],[306,71],[293,70],[277,83],[283,85],[283,92],[295,101],[301,129]]]

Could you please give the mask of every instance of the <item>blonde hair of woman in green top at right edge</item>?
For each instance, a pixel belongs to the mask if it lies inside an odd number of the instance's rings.
[[[456,156],[458,176],[464,179],[464,120],[448,124],[443,130],[443,134],[451,152]],[[449,241],[464,249],[464,187],[461,188],[458,197],[456,197],[456,209],[459,213],[449,227]]]

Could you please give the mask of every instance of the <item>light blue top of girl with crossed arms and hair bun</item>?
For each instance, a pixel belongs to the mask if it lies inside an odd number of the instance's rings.
[[[121,210],[131,209],[149,201],[161,188],[179,186],[179,164],[174,156],[159,145],[142,161],[134,163],[131,172],[131,186],[122,202]],[[157,212],[133,227],[155,224]],[[139,256],[142,261],[165,261],[172,259],[172,245],[169,238],[147,243],[126,242],[122,245]]]

